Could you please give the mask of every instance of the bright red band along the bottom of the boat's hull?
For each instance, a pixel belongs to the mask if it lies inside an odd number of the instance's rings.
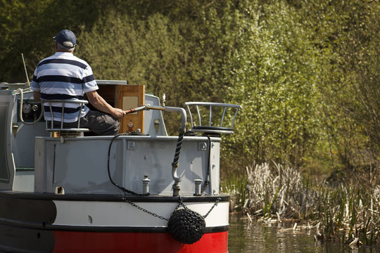
[[[149,253],[227,253],[228,232],[206,233],[201,240],[186,245],[168,233],[101,233],[53,231],[53,252],[149,252]]]

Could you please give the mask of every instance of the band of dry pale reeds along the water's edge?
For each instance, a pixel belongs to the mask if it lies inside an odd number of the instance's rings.
[[[232,195],[232,211],[250,218],[304,221],[315,228],[316,240],[355,247],[378,242],[380,186],[313,184],[296,169],[265,163],[247,167],[246,176],[232,177],[223,187]]]

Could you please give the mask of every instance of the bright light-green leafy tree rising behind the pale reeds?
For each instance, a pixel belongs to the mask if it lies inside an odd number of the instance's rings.
[[[316,52],[303,17],[283,2],[247,4],[232,72],[229,100],[243,105],[231,146],[243,166],[277,160],[298,167],[318,134]],[[239,143],[238,145],[236,145]],[[234,156],[234,153],[229,153]]]

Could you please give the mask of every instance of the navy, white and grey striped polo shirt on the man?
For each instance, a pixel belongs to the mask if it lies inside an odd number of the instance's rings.
[[[78,116],[84,117],[89,111],[87,106],[69,103],[70,100],[83,100],[84,93],[98,88],[88,63],[72,53],[56,52],[45,58],[34,71],[32,91],[41,93],[41,100],[65,100],[64,122],[76,122]],[[66,102],[67,101],[67,102]],[[52,103],[53,119],[61,122],[62,103]],[[51,120],[49,103],[44,103],[44,117]]]

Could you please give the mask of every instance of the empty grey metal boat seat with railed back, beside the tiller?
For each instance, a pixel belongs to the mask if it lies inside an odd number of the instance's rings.
[[[186,102],[184,104],[189,111],[192,131],[203,134],[234,134],[234,122],[241,105],[210,102]],[[191,108],[196,109],[194,117]],[[198,124],[196,124],[195,117],[198,117]],[[223,126],[226,124],[226,118],[228,118],[229,126]],[[203,124],[204,122],[207,123]]]

